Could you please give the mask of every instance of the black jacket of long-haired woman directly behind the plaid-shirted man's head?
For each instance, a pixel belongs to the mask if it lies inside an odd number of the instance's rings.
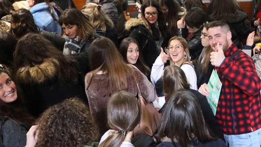
[[[251,29],[251,24],[247,19],[247,15],[245,12],[237,11],[237,20],[234,22],[228,23],[230,27],[230,31],[232,33],[232,41],[235,46],[239,49],[243,49],[241,40],[247,39],[249,33],[253,30]]]

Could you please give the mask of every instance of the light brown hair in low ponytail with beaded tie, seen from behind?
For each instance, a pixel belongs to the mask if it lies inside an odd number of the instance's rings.
[[[115,132],[112,131],[99,147],[120,146],[125,136],[119,131],[133,131],[140,122],[141,112],[137,98],[126,91],[113,94],[107,105],[107,113],[109,127]]]

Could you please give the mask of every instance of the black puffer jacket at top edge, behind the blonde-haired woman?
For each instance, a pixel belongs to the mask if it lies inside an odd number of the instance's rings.
[[[85,2],[85,4],[88,4],[88,3],[96,3],[96,2],[94,2],[93,0],[87,0]],[[101,9],[105,12],[105,14],[107,16],[109,16],[109,18],[111,18],[114,26],[117,26],[118,10],[117,10],[115,4],[113,3],[113,0],[100,0],[96,4],[102,5]]]

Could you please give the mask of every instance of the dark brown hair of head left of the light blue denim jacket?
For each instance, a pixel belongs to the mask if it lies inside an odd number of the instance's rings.
[[[12,12],[10,33],[20,38],[27,33],[39,33],[38,26],[29,10],[18,9]]]

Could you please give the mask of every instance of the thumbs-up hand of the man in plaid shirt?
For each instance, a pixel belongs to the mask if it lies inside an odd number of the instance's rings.
[[[225,55],[223,52],[223,46],[219,43],[216,45],[217,52],[210,53],[210,62],[213,66],[219,67],[220,64],[224,61]]]

